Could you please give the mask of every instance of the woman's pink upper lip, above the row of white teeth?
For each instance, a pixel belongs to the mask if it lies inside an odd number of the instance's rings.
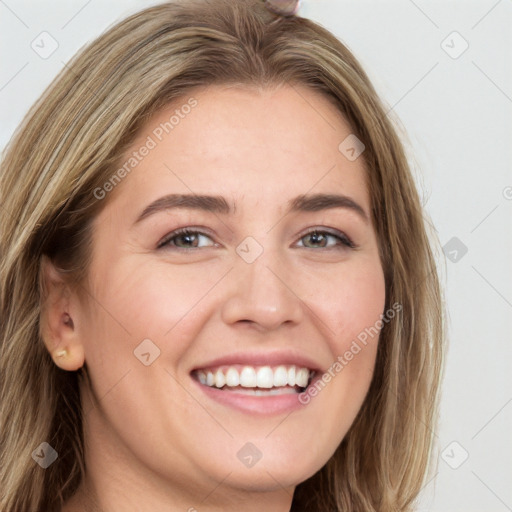
[[[229,355],[211,359],[210,361],[197,365],[192,369],[192,371],[204,368],[215,368],[217,366],[230,366],[234,364],[244,364],[247,366],[295,365],[301,368],[308,368],[313,371],[320,371],[320,365],[312,358],[290,350],[230,353]]]

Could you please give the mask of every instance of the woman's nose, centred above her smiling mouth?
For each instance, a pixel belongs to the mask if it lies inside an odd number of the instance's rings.
[[[250,323],[259,331],[300,323],[305,305],[294,290],[297,276],[292,276],[290,267],[286,267],[269,250],[264,250],[252,263],[237,257],[222,306],[223,321],[228,325]]]

